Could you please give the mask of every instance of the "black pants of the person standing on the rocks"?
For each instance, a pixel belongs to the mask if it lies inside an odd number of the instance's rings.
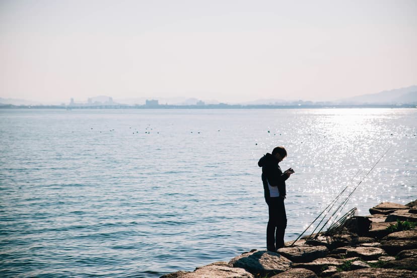
[[[266,248],[274,251],[284,247],[284,234],[287,228],[287,214],[285,213],[284,199],[270,197],[265,199],[268,204],[268,226],[266,226]]]

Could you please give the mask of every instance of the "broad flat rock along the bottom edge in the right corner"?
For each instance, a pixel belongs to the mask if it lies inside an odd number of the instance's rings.
[[[402,269],[364,268],[335,273],[331,278],[415,278],[417,272]]]

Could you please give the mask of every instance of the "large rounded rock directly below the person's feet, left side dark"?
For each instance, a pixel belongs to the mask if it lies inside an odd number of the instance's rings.
[[[290,269],[291,263],[289,259],[277,253],[252,251],[231,259],[229,266],[244,268],[255,275],[270,275]]]

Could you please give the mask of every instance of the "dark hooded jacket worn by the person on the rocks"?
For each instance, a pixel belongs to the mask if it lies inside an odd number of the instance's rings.
[[[265,199],[270,197],[268,182],[272,187],[278,187],[280,197],[285,198],[286,196],[285,181],[288,175],[283,173],[278,163],[278,160],[270,153],[265,154],[258,161],[258,166],[262,167],[262,183]]]

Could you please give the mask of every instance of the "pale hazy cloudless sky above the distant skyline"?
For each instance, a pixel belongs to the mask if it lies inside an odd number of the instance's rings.
[[[417,1],[0,0],[0,97],[333,101],[417,84]]]

